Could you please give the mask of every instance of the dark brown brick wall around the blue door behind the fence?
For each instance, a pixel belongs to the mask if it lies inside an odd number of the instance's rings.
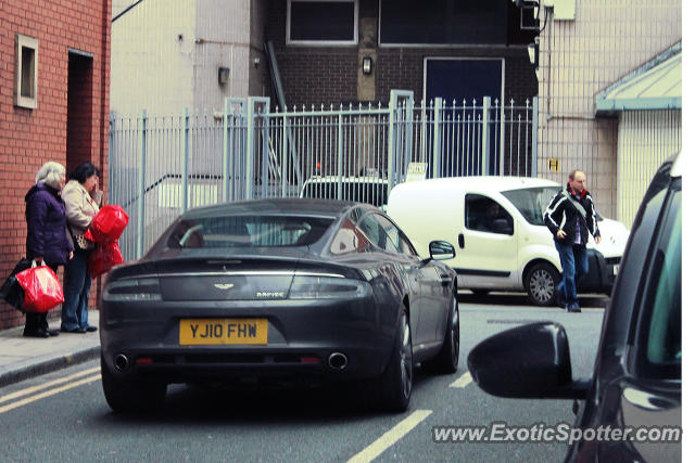
[[[266,38],[273,40],[287,104],[320,105],[357,100],[357,46],[286,46],[285,0],[268,0]],[[378,17],[378,2],[359,2],[361,17]],[[413,90],[422,99],[425,57],[504,57],[505,100],[523,102],[538,94],[538,80],[523,46],[469,48],[383,48],[376,51],[376,99],[389,103],[392,89]],[[275,101],[274,101],[275,105]]]

